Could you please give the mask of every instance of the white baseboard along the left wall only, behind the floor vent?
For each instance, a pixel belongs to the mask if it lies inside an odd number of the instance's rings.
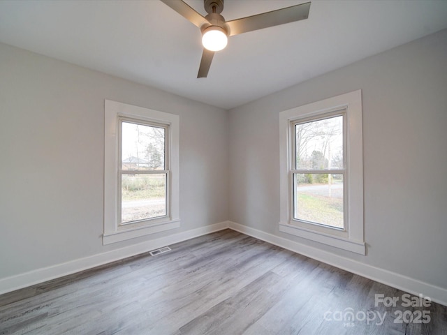
[[[170,244],[185,241],[186,239],[192,239],[194,237],[210,234],[210,232],[217,232],[226,228],[228,228],[228,221],[215,223],[214,225],[205,225],[204,227],[187,230],[186,232],[179,232],[177,234],[161,237],[159,239],[152,239],[139,244],[133,244],[131,246],[108,251],[106,253],[99,253],[86,258],[79,258],[70,262],[25,272],[24,274],[1,278],[0,295],[6,292],[18,290],[20,288],[26,288],[31,285],[43,283],[45,281],[50,281],[54,278],[91,269],[92,267],[114,262],[115,260],[122,260],[123,258],[129,258],[140,253],[146,253],[156,248],[161,248],[162,246],[168,246]]]

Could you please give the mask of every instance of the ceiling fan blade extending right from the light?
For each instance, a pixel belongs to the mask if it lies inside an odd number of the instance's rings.
[[[309,17],[310,2],[296,6],[272,10],[253,16],[242,17],[226,22],[230,26],[230,36],[258,29],[278,26],[279,24],[304,20]]]

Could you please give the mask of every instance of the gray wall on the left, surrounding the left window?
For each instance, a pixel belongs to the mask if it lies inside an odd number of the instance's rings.
[[[104,99],[180,116],[181,228],[102,245]],[[0,44],[0,279],[226,221],[228,113]]]

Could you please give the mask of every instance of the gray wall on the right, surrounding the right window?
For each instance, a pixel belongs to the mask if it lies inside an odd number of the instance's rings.
[[[366,256],[277,225],[279,112],[357,89]],[[447,288],[447,30],[230,110],[229,144],[230,221]]]

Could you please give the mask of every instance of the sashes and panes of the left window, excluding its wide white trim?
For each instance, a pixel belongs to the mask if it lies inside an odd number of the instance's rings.
[[[169,126],[124,117],[119,117],[119,126],[120,224],[138,225],[166,217]]]

